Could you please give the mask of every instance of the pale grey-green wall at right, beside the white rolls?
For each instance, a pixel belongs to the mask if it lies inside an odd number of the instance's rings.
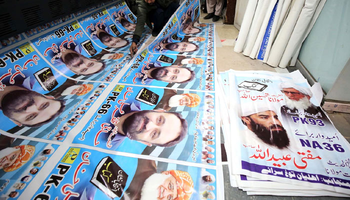
[[[327,0],[298,56],[325,92],[350,57],[349,19],[350,0]]]

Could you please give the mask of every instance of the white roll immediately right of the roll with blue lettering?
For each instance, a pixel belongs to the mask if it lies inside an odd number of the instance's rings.
[[[290,35],[293,31],[297,18],[304,5],[304,0],[296,0],[290,8],[290,11],[285,19],[281,29],[279,30],[276,39],[274,40],[266,63],[270,66],[277,67],[279,60],[282,57],[285,46],[288,43]]]

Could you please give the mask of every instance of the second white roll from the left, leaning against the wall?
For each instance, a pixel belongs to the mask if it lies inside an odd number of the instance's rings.
[[[243,50],[243,55],[249,56],[251,49],[253,48],[253,45],[256,40],[256,36],[259,33],[262,20],[266,14],[265,10],[267,9],[269,5],[269,0],[259,0],[256,6],[254,18],[252,21],[252,24],[249,29],[248,38],[246,40],[246,44]]]

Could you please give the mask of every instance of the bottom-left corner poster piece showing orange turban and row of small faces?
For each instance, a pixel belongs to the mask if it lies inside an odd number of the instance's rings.
[[[57,147],[0,134],[0,198],[17,199]]]

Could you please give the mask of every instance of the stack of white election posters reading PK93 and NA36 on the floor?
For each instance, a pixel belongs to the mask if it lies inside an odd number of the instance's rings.
[[[299,71],[220,72],[230,182],[247,194],[343,196],[350,145]]]

